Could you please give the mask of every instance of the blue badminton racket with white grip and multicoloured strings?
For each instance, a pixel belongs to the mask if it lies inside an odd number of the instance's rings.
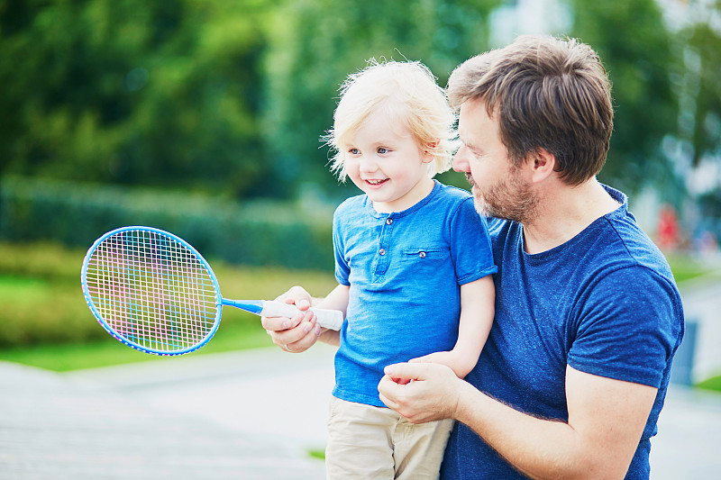
[[[224,305],[269,317],[292,317],[295,305],[229,300],[213,270],[178,236],[152,227],[108,231],[87,250],[80,275],[90,311],[116,340],[155,355],[203,347]],[[342,312],[311,309],[322,327],[340,330]]]

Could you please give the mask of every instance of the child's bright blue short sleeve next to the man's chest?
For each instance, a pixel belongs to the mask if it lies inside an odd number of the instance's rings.
[[[476,211],[472,197],[461,202],[452,215],[451,255],[458,285],[498,271],[493,261],[486,219]]]

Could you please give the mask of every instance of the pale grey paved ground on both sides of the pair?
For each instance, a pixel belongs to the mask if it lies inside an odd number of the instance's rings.
[[[693,376],[721,372],[721,279],[689,285]],[[0,478],[322,479],[333,349],[188,355],[68,374],[0,362]],[[654,480],[721,472],[721,394],[671,388]]]

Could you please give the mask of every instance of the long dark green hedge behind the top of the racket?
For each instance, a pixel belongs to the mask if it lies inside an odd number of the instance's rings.
[[[238,265],[333,268],[332,208],[249,202],[139,187],[6,177],[0,239],[54,240],[88,248],[105,231],[147,225],[171,231],[205,258]]]

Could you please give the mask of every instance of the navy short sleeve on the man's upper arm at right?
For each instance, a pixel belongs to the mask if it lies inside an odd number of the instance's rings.
[[[680,298],[646,267],[616,270],[577,305],[568,364],[582,372],[661,387],[683,335]]]

